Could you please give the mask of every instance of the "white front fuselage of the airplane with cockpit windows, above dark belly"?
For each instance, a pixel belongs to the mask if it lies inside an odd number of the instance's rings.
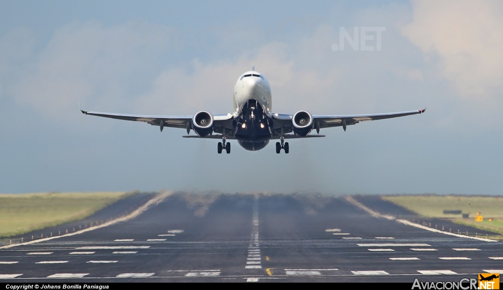
[[[234,117],[239,116],[248,100],[257,100],[264,114],[271,116],[271,86],[258,71],[247,71],[237,79],[234,85]]]

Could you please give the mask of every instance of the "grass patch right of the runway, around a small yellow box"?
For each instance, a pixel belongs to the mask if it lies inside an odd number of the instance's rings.
[[[446,218],[458,224],[503,234],[503,197],[429,195],[383,196],[382,199],[423,217]],[[469,214],[469,218],[444,214],[444,210],[461,210],[463,214]],[[475,221],[476,213],[483,217],[482,222]],[[489,218],[493,220],[488,221]]]

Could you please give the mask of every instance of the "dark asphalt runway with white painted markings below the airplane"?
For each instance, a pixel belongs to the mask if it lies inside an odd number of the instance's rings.
[[[122,221],[0,247],[0,281],[412,283],[503,272],[501,242],[408,224],[375,197],[155,199]]]

